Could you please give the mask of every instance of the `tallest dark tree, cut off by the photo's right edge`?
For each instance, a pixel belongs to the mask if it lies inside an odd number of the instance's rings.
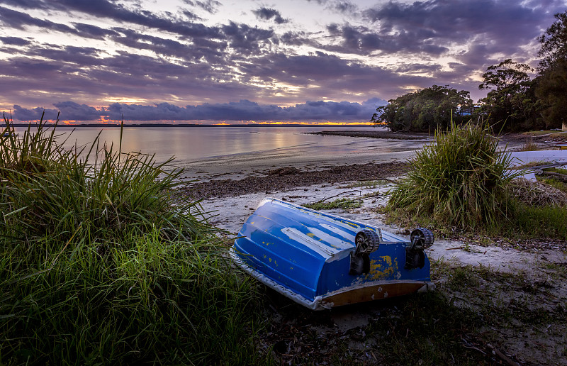
[[[546,128],[567,123],[567,11],[555,14],[556,21],[538,38],[539,82],[536,96],[542,105]]]

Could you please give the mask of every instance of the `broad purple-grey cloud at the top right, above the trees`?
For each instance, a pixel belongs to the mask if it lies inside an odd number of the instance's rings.
[[[513,54],[541,32],[544,10],[519,1],[390,1],[364,11],[372,31],[392,35],[400,50],[436,54],[450,43],[482,43],[490,52]]]

